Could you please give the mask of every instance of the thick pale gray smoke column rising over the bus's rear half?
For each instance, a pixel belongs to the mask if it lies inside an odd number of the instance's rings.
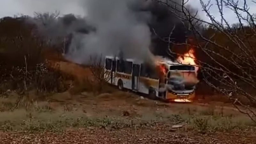
[[[86,63],[92,55],[117,56],[121,51],[125,58],[150,58],[150,13],[132,10],[140,4],[140,0],[84,0],[86,20],[96,31],[74,33],[67,58]]]

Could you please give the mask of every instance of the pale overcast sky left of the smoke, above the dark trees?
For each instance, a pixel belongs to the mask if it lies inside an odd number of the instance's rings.
[[[20,14],[33,16],[34,12],[60,11],[61,14],[84,14],[78,0],[0,0],[0,2],[1,18]]]

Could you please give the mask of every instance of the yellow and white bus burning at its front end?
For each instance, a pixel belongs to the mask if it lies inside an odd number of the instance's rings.
[[[120,90],[148,94],[151,99],[160,98],[176,102],[189,102],[195,97],[196,84],[186,82],[187,77],[196,77],[194,66],[182,65],[171,60],[157,62],[164,68],[160,76],[157,68],[152,68],[139,60],[105,57],[105,75],[108,83]]]

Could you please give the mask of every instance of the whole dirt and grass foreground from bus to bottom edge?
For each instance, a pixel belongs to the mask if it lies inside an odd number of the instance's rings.
[[[33,94],[33,93],[31,93]],[[2,144],[250,144],[255,124],[227,104],[163,103],[131,92],[54,94],[8,109],[1,98]],[[27,104],[28,105],[28,104]]]

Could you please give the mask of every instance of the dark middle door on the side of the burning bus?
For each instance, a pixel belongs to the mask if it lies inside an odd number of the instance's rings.
[[[132,67],[132,90],[139,90],[140,65],[133,64]]]

